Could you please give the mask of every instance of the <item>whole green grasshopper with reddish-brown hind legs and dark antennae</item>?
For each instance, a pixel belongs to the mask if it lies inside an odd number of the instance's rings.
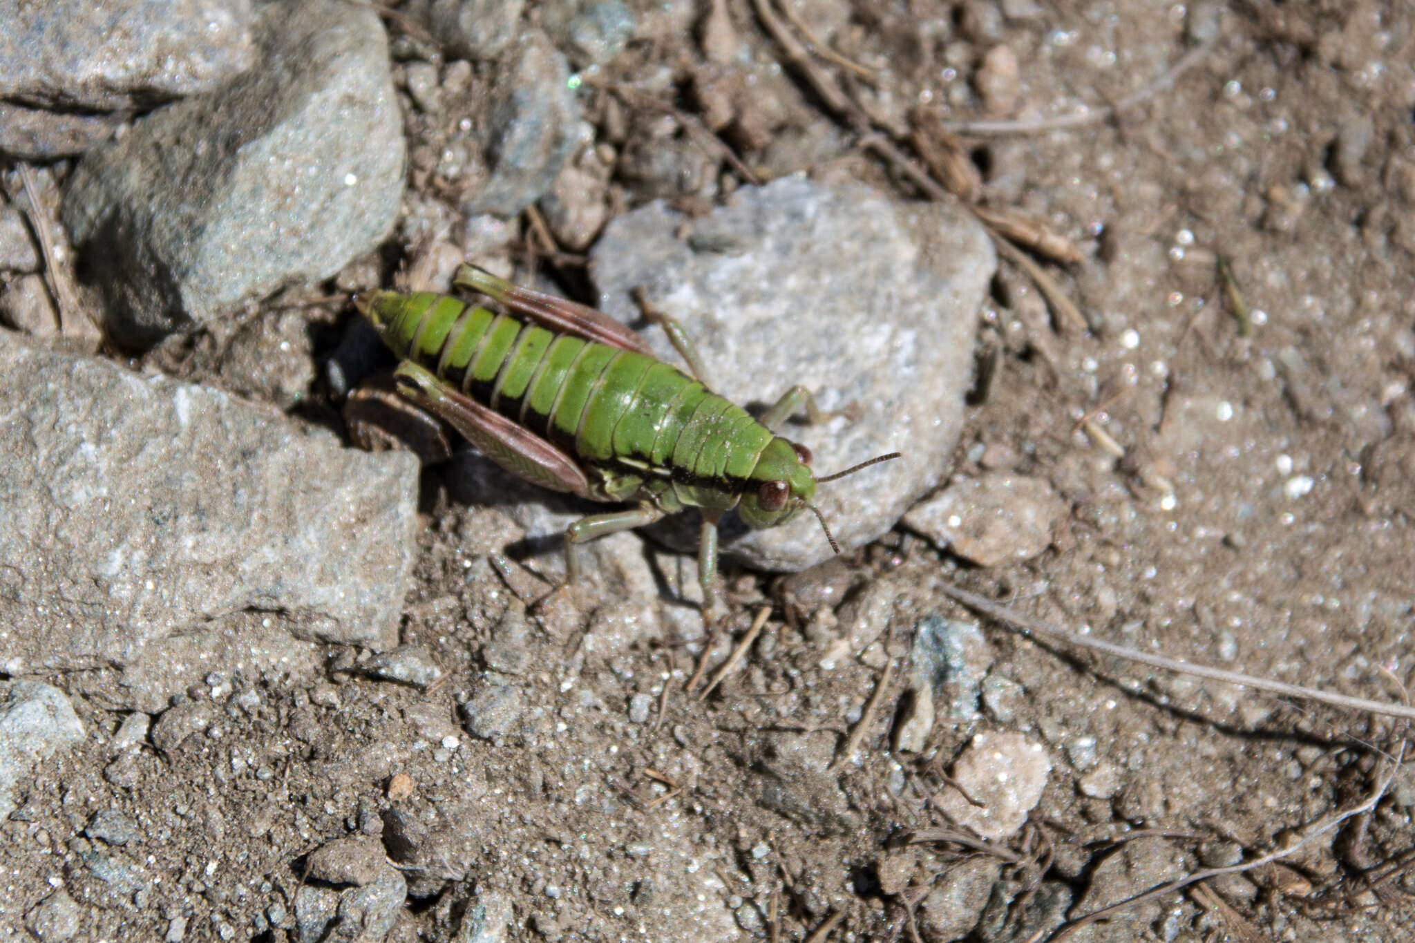
[[[815,486],[874,462],[816,478],[811,451],[771,430],[798,409],[815,421],[811,393],[792,386],[753,418],[708,390],[702,361],[682,327],[654,312],[692,376],[664,363],[638,334],[565,298],[461,266],[453,287],[481,293],[509,314],[429,291],[364,291],[354,298],[402,361],[399,393],[444,418],[512,475],[553,491],[635,508],[593,515],[565,533],[566,581],[576,547],[642,527],[689,508],[702,513],[698,580],[703,612],[716,608],[717,522],[737,509],[751,527],[775,527],[811,510]],[[647,310],[647,308],[645,308]]]

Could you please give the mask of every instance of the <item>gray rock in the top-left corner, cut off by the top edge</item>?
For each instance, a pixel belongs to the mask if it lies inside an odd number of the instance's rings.
[[[253,62],[249,0],[0,0],[0,98],[110,112],[211,92]]]

